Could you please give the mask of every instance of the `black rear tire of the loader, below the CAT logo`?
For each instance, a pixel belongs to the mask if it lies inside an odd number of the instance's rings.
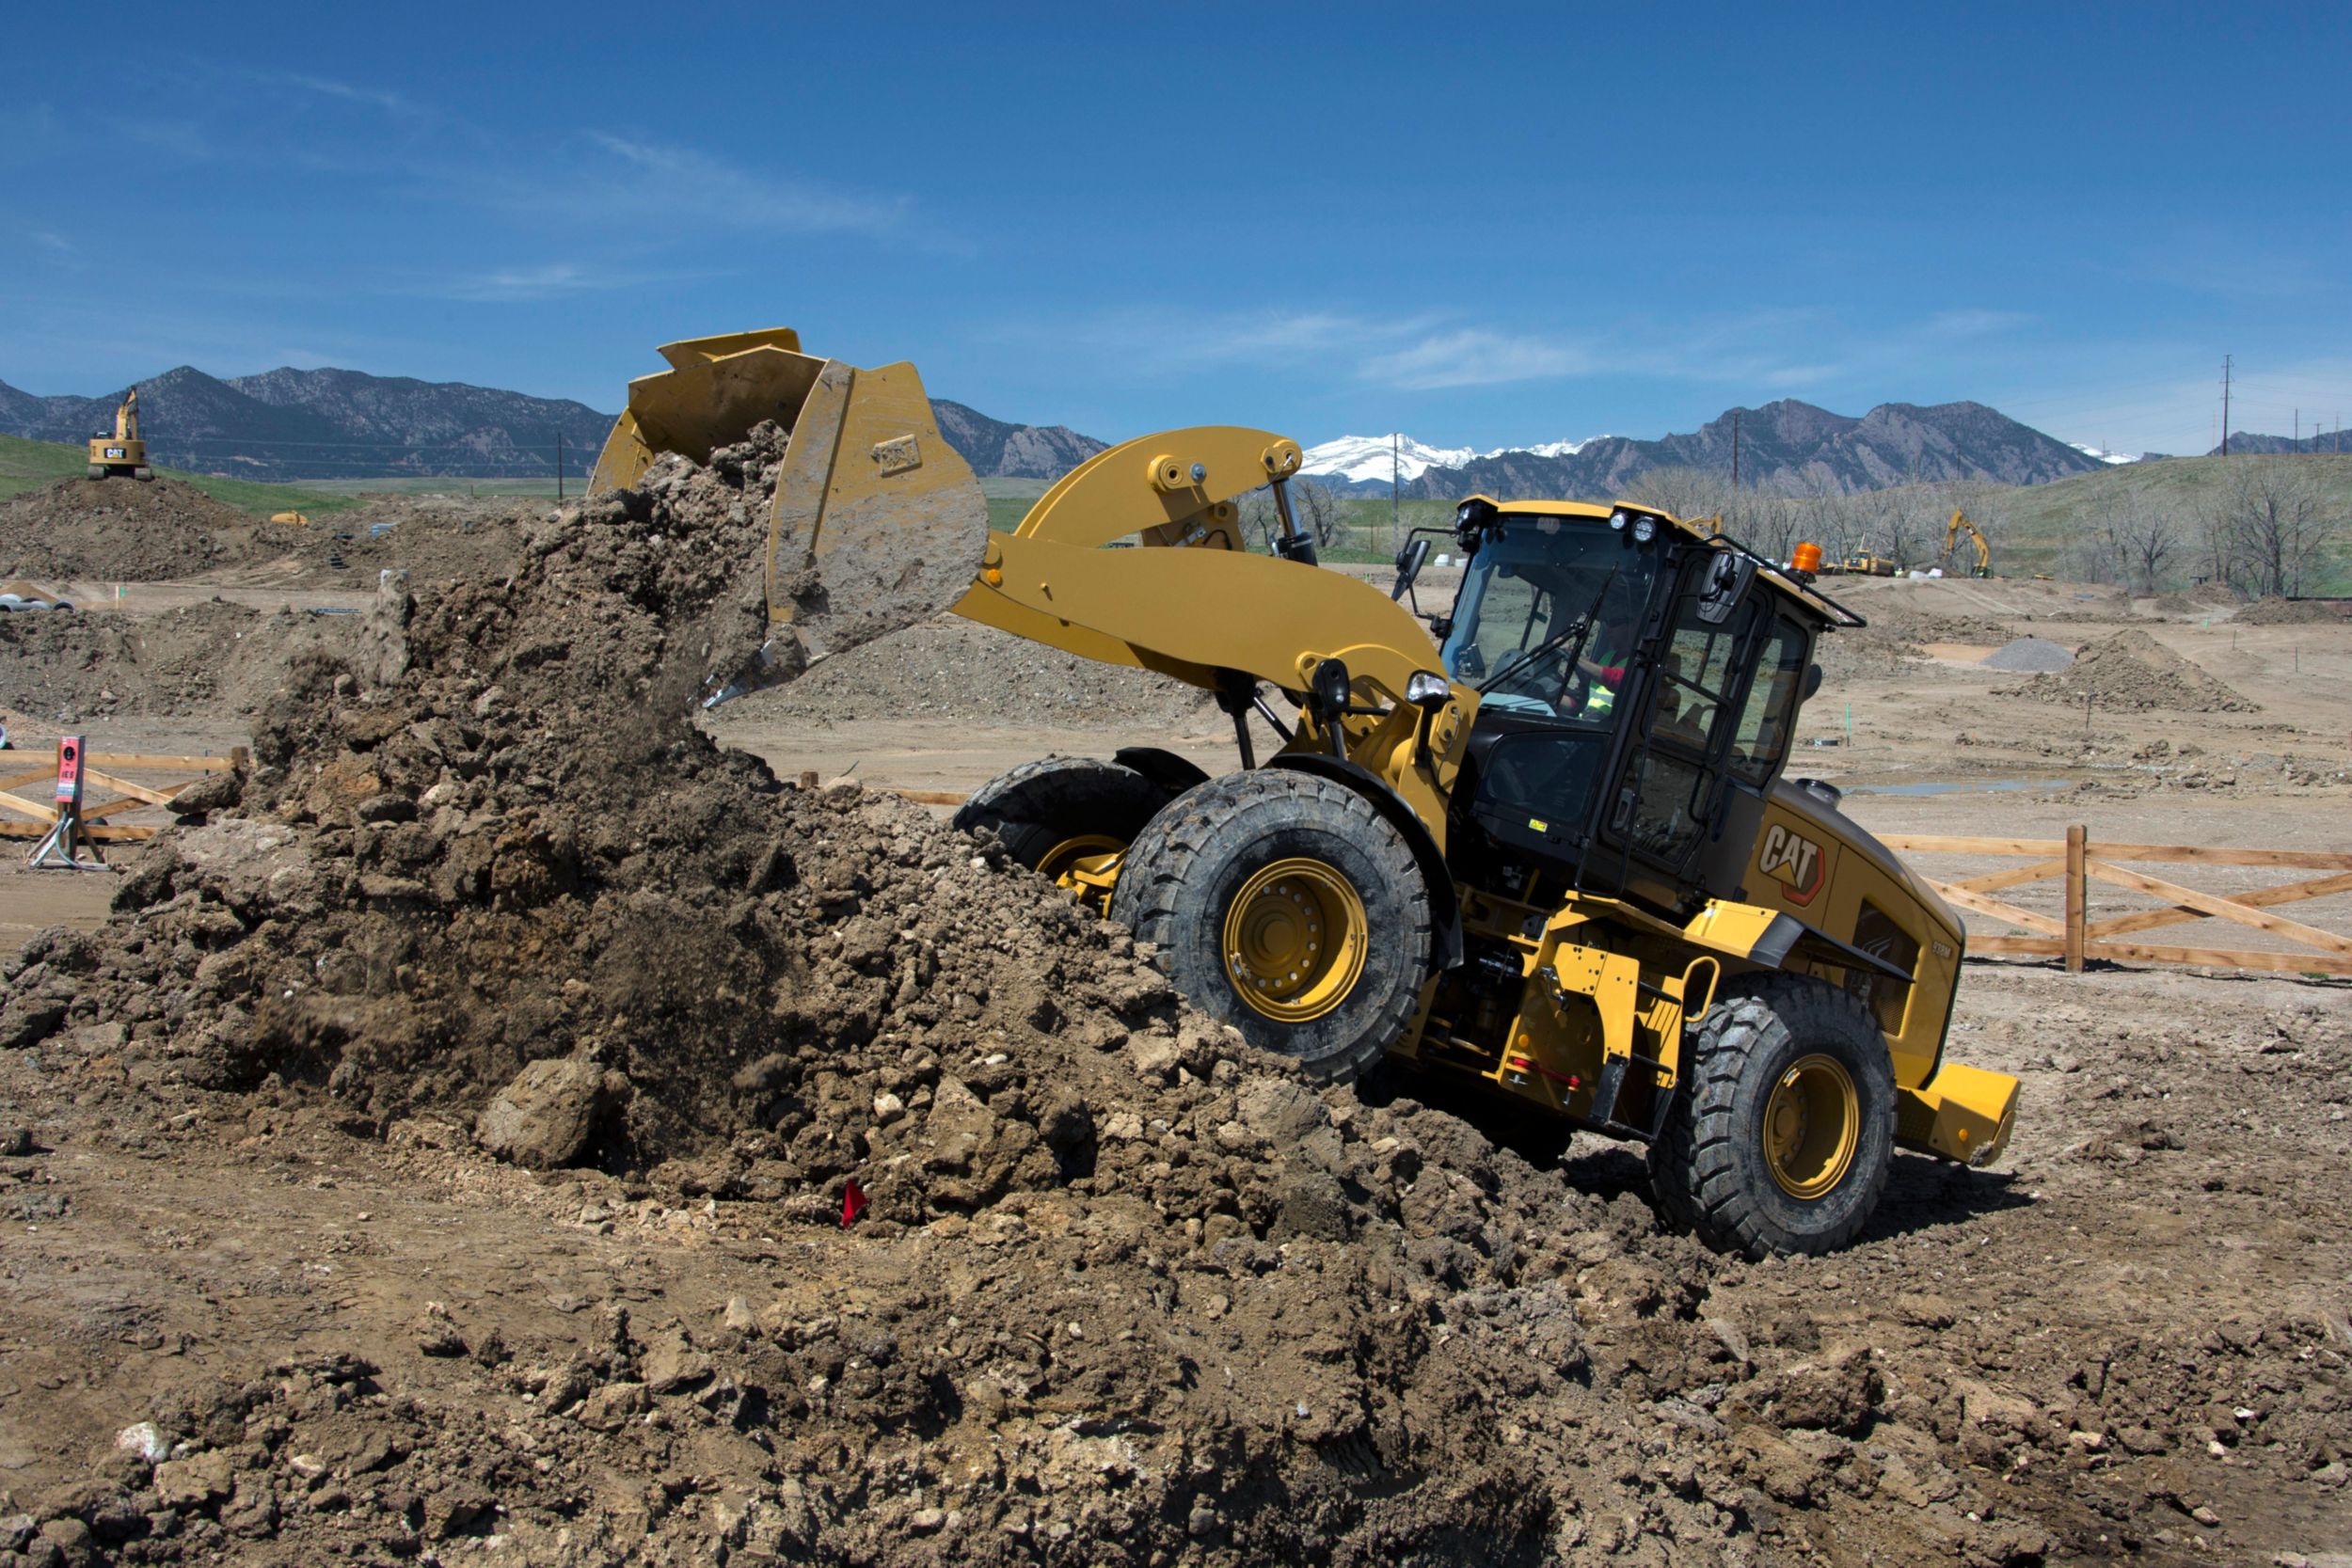
[[[1797,1147],[1776,1159],[1766,1126],[1776,1091],[1823,1058],[1851,1088],[1851,1150],[1839,1159],[1837,1135],[1816,1140],[1799,1110],[1806,1133],[1778,1145]],[[1835,1098],[1837,1072],[1813,1065],[1799,1077]],[[1780,1114],[1804,1100],[1792,1091]],[[1682,1086],[1649,1152],[1651,1192],[1670,1225],[1719,1253],[1832,1253],[1870,1222],[1893,1150],[1893,1060],[1863,1001],[1809,976],[1762,976],[1733,983],[1689,1032]]]

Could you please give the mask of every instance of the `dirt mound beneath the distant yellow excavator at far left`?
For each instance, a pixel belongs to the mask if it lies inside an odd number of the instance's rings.
[[[56,480],[0,501],[0,576],[183,578],[296,555],[308,534],[256,522],[179,480]]]

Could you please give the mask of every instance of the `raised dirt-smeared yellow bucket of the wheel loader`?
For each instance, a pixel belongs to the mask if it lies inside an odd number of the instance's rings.
[[[666,343],[628,383],[590,489],[628,487],[663,451],[703,463],[762,418],[786,425],[767,531],[769,642],[710,701],[950,609],[981,571],[988,501],[938,435],[913,364],[856,369],[776,327]]]

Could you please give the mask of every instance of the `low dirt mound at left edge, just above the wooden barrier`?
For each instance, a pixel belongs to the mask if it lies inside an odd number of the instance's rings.
[[[259,611],[212,599],[158,616],[0,616],[0,705],[56,722],[103,715],[254,712],[289,661],[336,649],[350,616]]]

